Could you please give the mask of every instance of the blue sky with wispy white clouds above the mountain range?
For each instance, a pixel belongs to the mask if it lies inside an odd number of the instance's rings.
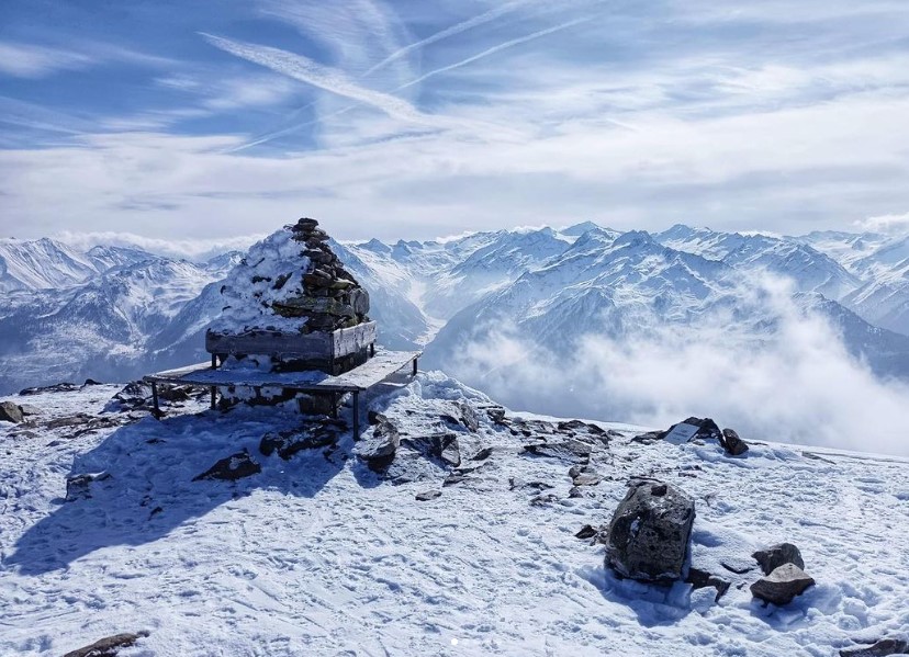
[[[0,237],[909,213],[906,0],[2,0]]]

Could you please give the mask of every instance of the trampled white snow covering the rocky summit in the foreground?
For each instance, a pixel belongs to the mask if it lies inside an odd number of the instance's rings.
[[[570,498],[571,455],[521,448],[587,440],[584,428],[526,414],[496,424],[486,397],[429,373],[371,407],[403,438],[457,433],[462,467],[479,467],[444,486],[439,463],[402,457],[397,474],[418,480],[394,485],[351,455],[349,434],[334,450],[262,456],[261,437],[299,423],[292,414],[222,414],[203,399],[162,421],[102,414],[117,389],[9,398],[41,412],[32,427],[0,423],[2,655],[148,630],[121,654],[829,656],[909,632],[906,460],[772,443],[730,458],[601,423],[618,432],[592,441],[603,482]],[[479,431],[441,418],[459,404]],[[79,412],[122,424],[48,428]],[[261,473],[192,480],[243,449]],[[101,471],[90,499],[64,501],[67,475]],[[608,523],[635,475],[695,498],[692,563],[732,582],[718,603],[714,589],[618,580],[602,545],[574,537]],[[427,490],[441,496],[415,499]],[[801,548],[817,586],[764,608],[748,590],[759,571],[720,562],[755,566],[750,554],[779,541]]]

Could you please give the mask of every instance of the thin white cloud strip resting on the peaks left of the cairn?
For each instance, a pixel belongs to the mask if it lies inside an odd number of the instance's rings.
[[[227,251],[246,251],[265,237],[265,234],[261,234],[236,237],[215,236],[212,239],[160,239],[113,230],[96,233],[64,230],[55,235],[54,239],[70,245],[79,251],[88,251],[97,246],[137,247],[149,253],[168,258],[204,261]]]

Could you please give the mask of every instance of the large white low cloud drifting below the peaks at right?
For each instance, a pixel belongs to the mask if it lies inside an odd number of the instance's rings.
[[[556,353],[514,331],[465,341],[447,370],[516,409],[666,428],[711,417],[745,439],[909,455],[909,386],[882,381],[785,285],[760,292],[775,331],[715,316],[696,326],[591,333]]]

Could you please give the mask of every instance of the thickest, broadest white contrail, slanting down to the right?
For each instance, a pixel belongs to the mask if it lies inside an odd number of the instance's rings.
[[[447,122],[440,117],[429,116],[419,112],[411,103],[401,100],[395,95],[383,93],[381,91],[373,91],[351,82],[340,71],[322,66],[312,59],[302,55],[294,55],[287,50],[272,48],[269,46],[258,46],[235,42],[221,36],[214,36],[200,32],[213,46],[221,48],[226,53],[231,53],[237,57],[252,61],[260,66],[270,68],[273,71],[306,82],[319,89],[325,89],[332,93],[349,98],[351,100],[372,105],[392,116],[409,123],[418,123],[423,125],[431,125],[435,127],[451,127],[450,125],[442,125]]]

